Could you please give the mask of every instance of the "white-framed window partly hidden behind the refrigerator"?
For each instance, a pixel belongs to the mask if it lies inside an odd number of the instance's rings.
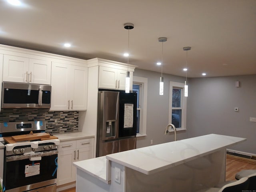
[[[148,78],[133,76],[132,92],[137,93],[137,137],[146,136]]]

